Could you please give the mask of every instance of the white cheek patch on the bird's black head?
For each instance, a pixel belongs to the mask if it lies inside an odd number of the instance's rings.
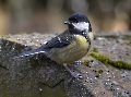
[[[73,26],[80,31],[84,31],[84,29],[88,31],[90,23],[86,23],[86,22],[73,23]]]

